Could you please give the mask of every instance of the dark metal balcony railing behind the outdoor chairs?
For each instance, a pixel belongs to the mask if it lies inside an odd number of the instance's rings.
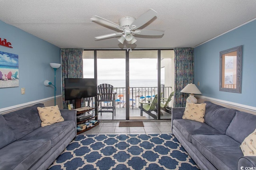
[[[130,108],[138,108],[140,106],[139,102],[147,102],[147,100],[152,100],[157,94],[157,87],[130,87],[130,97],[129,101],[126,101],[126,88],[125,87],[114,87],[114,92],[116,92],[116,108],[126,108],[127,105]],[[161,85],[161,92],[163,92],[163,98],[168,98],[172,92],[172,87],[164,87]],[[102,102],[102,106],[108,106],[112,103]]]

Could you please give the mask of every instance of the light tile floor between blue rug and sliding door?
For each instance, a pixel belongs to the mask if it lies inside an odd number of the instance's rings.
[[[171,121],[143,121],[144,127],[118,127],[119,121],[100,121],[100,124],[83,135],[129,135],[172,133]]]

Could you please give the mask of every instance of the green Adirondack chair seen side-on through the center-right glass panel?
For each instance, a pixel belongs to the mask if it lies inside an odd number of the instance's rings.
[[[144,111],[154,119],[157,119],[157,115],[152,113],[152,111],[156,111],[156,105],[157,105],[157,94],[155,95],[151,103],[140,102],[140,106],[139,106],[140,116],[143,116],[143,111]]]

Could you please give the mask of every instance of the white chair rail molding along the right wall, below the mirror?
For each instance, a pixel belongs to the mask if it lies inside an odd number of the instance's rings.
[[[238,109],[243,109],[243,110],[247,110],[247,111],[256,112],[256,107],[253,107],[253,106],[238,104],[238,103],[229,102],[229,101],[226,101],[226,100],[220,100],[220,99],[210,98],[210,97],[200,96],[200,95],[196,95],[196,97],[199,98],[199,99],[202,99],[202,100],[208,100],[210,102],[215,102],[215,103],[219,103],[219,104],[222,104],[222,105],[235,107],[235,108],[238,108]]]

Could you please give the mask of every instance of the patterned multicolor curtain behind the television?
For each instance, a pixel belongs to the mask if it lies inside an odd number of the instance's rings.
[[[74,100],[65,101],[65,78],[83,78],[83,49],[61,49],[62,68],[62,104],[68,109],[68,104],[75,104]],[[84,107],[84,102],[81,107]],[[75,105],[74,105],[75,106]]]

